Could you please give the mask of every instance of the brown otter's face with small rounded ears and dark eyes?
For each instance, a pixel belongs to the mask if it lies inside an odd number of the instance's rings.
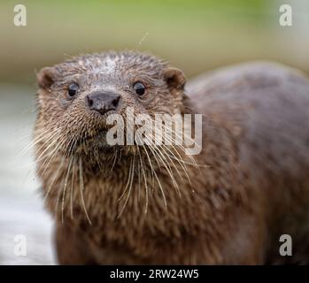
[[[37,83],[40,126],[35,134],[45,133],[45,142],[54,142],[64,154],[109,149],[106,119],[117,113],[126,120],[128,107],[151,118],[183,112],[182,71],[143,53],[73,57],[43,68]]]

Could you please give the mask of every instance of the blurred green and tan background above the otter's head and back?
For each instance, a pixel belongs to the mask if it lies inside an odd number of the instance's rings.
[[[25,4],[27,27],[13,25]],[[279,25],[291,4],[293,26]],[[0,81],[34,82],[35,70],[67,56],[147,50],[192,76],[250,59],[309,72],[308,0],[4,1],[0,3]]]

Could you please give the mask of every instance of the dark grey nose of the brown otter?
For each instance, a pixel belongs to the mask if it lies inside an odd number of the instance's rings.
[[[114,92],[94,92],[86,96],[86,103],[90,110],[101,114],[116,110],[120,102],[120,95]]]

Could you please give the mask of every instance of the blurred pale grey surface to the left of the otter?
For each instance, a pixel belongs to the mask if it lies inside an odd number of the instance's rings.
[[[0,85],[0,264],[55,264],[52,221],[43,209],[31,142],[35,88]],[[26,256],[14,253],[18,235]]]

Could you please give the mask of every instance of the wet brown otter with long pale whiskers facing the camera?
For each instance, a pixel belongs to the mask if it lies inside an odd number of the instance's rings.
[[[309,81],[267,62],[186,79],[104,52],[37,74],[35,159],[59,264],[306,264]],[[104,142],[109,114],[203,115],[202,149]],[[280,236],[292,239],[281,256]]]

